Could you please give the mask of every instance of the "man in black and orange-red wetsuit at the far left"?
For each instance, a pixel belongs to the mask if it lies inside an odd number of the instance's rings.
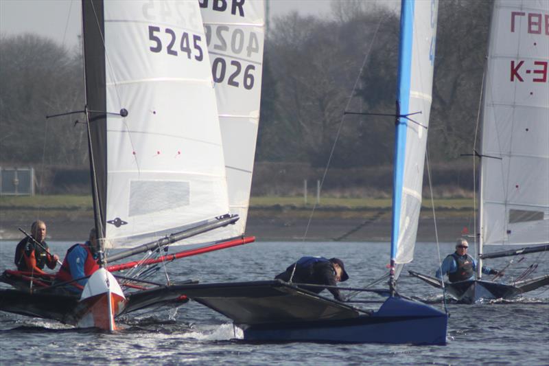
[[[42,220],[32,223],[31,236],[27,236],[17,244],[14,262],[18,271],[45,274],[44,266],[56,268],[58,255],[49,253],[46,239],[46,224]]]

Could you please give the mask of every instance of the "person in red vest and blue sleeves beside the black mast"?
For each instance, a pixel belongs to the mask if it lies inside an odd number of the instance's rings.
[[[56,275],[56,282],[71,282],[65,288],[73,292],[80,292],[88,282],[88,276],[91,276],[97,269],[97,234],[95,228],[91,229],[89,240],[85,244],[74,244],[67,250],[65,260]],[[83,278],[85,277],[85,278]]]

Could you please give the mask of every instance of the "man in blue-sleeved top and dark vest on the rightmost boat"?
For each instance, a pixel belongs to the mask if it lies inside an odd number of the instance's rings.
[[[474,279],[476,273],[476,261],[467,254],[469,244],[465,239],[458,239],[456,251],[449,254],[439,269],[436,270],[436,278],[443,279],[443,274],[448,275],[450,282],[465,281]],[[482,273],[485,275],[497,275],[499,271],[482,266]]]

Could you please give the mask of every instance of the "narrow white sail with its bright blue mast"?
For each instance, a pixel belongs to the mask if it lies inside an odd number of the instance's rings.
[[[400,114],[409,115],[409,119],[399,118],[395,148],[391,258],[396,264],[411,262],[414,257],[432,102],[438,6],[438,1],[402,2],[398,102]]]

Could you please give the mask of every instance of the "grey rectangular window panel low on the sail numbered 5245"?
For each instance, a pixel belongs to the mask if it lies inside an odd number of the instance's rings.
[[[188,206],[189,196],[189,182],[132,181],[128,215],[153,214],[172,207]]]

